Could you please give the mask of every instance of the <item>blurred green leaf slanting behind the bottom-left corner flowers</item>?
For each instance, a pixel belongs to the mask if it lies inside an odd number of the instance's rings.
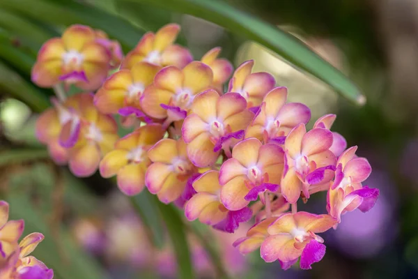
[[[31,232],[45,235],[45,240],[40,243],[33,255],[45,262],[49,268],[54,269],[54,278],[107,278],[98,262],[82,252],[68,232],[61,229],[54,239],[45,217],[31,205],[28,195],[11,193],[7,200],[10,203],[10,219],[25,220],[25,235]]]

